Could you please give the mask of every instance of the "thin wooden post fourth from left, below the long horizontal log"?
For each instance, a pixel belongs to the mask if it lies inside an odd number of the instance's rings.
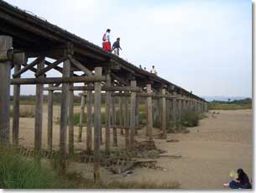
[[[50,84],[49,87],[52,87],[53,84]],[[54,110],[54,100],[53,100],[54,91],[48,91],[48,122],[47,122],[47,148],[52,151],[52,127],[53,127],[53,110]]]

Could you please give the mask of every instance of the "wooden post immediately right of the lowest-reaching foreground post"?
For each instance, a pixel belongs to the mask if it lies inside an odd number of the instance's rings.
[[[111,86],[111,76],[107,73],[106,86]],[[110,126],[111,126],[111,91],[106,91],[106,128],[105,128],[105,152],[109,154],[110,151]]]

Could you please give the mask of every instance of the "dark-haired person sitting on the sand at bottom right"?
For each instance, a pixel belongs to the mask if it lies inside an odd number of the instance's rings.
[[[224,184],[224,186],[229,186],[232,189],[252,189],[248,175],[244,173],[243,169],[238,169],[237,173],[238,178]]]

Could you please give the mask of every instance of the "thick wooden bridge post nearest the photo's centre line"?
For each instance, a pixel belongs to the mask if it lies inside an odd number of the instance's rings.
[[[131,81],[131,86],[136,87],[136,81]],[[136,92],[131,93],[131,107],[130,107],[130,149],[134,147],[134,130],[136,121]]]

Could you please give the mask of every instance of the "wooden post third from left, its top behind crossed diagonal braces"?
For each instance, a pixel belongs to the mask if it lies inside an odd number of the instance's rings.
[[[40,57],[37,71],[44,69],[44,57]],[[44,76],[44,75],[42,75]],[[41,76],[41,77],[42,77]],[[36,85],[35,95],[35,117],[34,117],[34,153],[39,159],[39,151],[42,148],[42,127],[43,127],[43,105],[44,105],[44,85]]]

